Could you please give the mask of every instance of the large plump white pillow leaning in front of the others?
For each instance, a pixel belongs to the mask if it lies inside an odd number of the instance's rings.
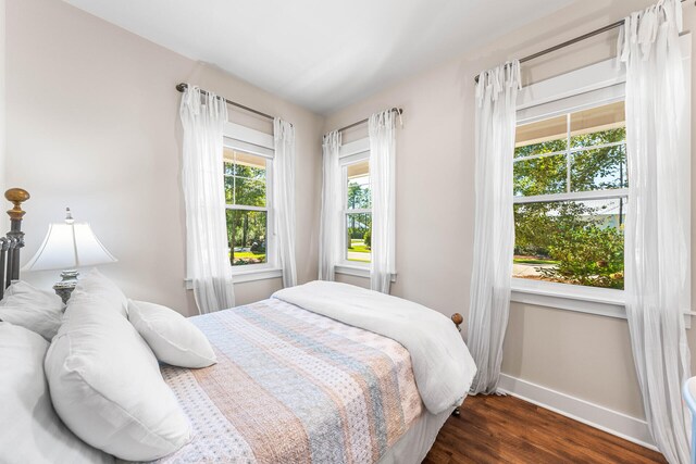
[[[178,450],[190,425],[157,359],[133,325],[103,298],[78,293],[46,355],[53,406],[79,438],[128,461]]]

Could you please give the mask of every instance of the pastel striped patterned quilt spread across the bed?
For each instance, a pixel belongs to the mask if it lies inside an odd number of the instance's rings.
[[[162,462],[374,463],[422,412],[389,338],[276,299],[191,322],[217,364],[162,367],[194,428]]]

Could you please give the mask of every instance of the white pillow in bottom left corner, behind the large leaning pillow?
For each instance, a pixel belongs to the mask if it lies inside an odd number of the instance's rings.
[[[0,461],[112,463],[112,456],[80,441],[55,415],[44,375],[47,349],[39,335],[0,323]]]

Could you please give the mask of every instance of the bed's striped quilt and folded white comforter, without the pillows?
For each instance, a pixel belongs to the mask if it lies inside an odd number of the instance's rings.
[[[153,462],[419,463],[475,373],[445,316],[341,284],[188,321],[217,362],[160,365],[192,434]]]

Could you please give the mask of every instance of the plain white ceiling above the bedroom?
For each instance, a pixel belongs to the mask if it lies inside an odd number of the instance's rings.
[[[65,1],[320,114],[339,110],[572,2]]]

